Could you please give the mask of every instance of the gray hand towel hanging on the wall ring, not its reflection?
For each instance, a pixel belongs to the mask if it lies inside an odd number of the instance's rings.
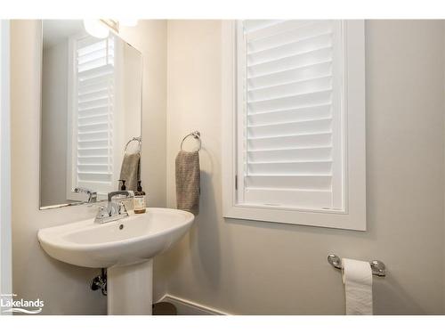
[[[175,163],[177,208],[196,216],[199,213],[199,153],[179,151]]]

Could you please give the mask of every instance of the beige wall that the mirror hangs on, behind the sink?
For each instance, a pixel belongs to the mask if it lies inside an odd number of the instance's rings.
[[[43,299],[44,314],[105,314],[105,297],[89,289],[98,271],[53,260],[38,245],[39,228],[89,218],[96,209],[38,209],[40,23],[12,20],[11,35],[13,291],[18,297]],[[149,205],[165,206],[166,21],[142,20],[136,28],[123,29],[121,35],[145,60],[142,154],[147,158],[142,162],[142,182]],[[156,290],[161,295],[163,285],[158,284]]]

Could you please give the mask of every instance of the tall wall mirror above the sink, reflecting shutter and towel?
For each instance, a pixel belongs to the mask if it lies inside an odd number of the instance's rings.
[[[82,20],[43,20],[40,206],[94,201],[140,178],[142,54]],[[78,188],[81,190],[79,191]]]

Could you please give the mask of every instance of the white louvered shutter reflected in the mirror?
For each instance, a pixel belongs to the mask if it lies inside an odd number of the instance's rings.
[[[114,37],[75,45],[72,184],[104,193],[113,185]]]

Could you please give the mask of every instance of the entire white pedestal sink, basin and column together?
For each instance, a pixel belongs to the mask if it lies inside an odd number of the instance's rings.
[[[38,231],[49,256],[71,265],[107,268],[108,314],[151,314],[152,257],[187,232],[194,216],[171,208],[147,208],[115,222],[88,219]]]

